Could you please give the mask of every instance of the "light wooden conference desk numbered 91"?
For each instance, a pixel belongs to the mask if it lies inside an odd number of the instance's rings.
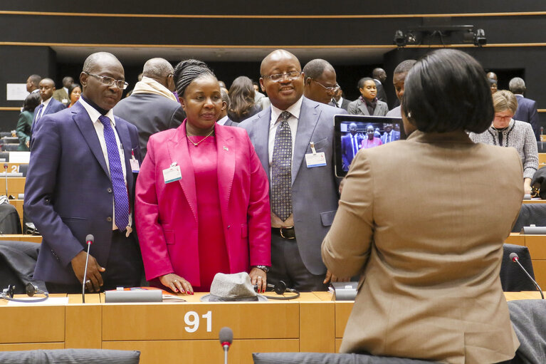
[[[302,293],[292,301],[222,303],[200,302],[204,294],[182,296],[187,299],[182,303],[103,303],[103,294],[86,295],[85,304],[80,295],[53,305],[11,306],[0,300],[0,350],[140,350],[142,364],[221,363],[218,334],[229,326],[231,363],[252,363],[255,352],[334,353],[353,305],[332,301],[328,292]],[[540,298],[538,292],[505,296]]]

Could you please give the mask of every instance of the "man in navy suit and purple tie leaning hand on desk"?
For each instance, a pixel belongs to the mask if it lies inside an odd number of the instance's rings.
[[[137,286],[142,274],[132,221],[138,132],[112,113],[127,87],[123,67],[93,53],[80,83],[78,103],[40,120],[26,177],[24,207],[43,236],[34,278],[50,292],[81,290],[87,234],[88,291]]]

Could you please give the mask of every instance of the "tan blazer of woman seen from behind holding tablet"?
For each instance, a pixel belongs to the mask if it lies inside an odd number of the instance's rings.
[[[519,346],[500,286],[503,241],[523,199],[513,148],[464,132],[360,150],[322,259],[359,282],[340,351],[498,363]]]

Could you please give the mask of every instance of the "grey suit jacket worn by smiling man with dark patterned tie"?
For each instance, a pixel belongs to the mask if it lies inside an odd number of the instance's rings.
[[[337,181],[334,174],[334,115],[345,113],[339,108],[303,98],[292,161],[292,204],[295,236],[305,267],[312,274],[325,274],[320,244],[330,229],[337,210]],[[269,124],[271,107],[244,120],[258,157],[269,175]],[[308,168],[305,154],[311,153],[310,142],[317,152],[325,152],[327,165]],[[271,185],[271,183],[270,183]]]

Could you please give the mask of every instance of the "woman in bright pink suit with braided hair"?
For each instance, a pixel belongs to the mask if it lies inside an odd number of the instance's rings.
[[[209,291],[216,273],[249,271],[265,291],[271,266],[266,172],[246,130],[216,125],[223,105],[206,64],[182,61],[174,80],[187,119],[149,138],[136,187],[146,279],[193,294]]]

